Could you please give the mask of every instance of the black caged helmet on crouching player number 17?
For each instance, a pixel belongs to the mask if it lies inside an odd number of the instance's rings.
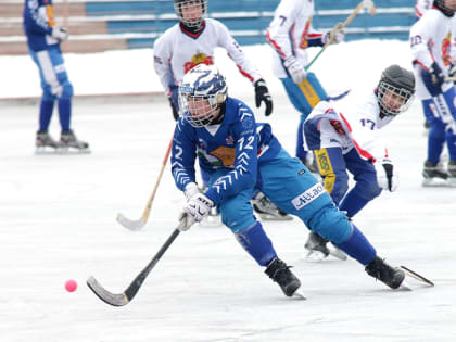
[[[381,73],[378,90],[380,112],[384,115],[397,115],[405,112],[414,98],[414,74],[396,64]]]

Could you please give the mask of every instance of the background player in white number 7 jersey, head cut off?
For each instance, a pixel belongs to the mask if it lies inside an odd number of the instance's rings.
[[[314,1],[281,0],[274,20],[267,28],[267,40],[274,49],[273,69],[280,78],[287,94],[301,113],[297,129],[296,156],[311,169],[315,169],[308,160],[312,154],[303,148],[302,125],[312,109],[327,98],[314,73],[307,73],[309,63],[307,48],[321,47],[330,37],[330,33],[316,31],[312,26]],[[334,31],[333,42],[344,38],[342,30]]]

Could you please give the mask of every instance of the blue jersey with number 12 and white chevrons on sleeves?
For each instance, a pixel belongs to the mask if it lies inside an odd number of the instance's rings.
[[[218,178],[205,192],[215,204],[256,183],[258,166],[281,150],[269,124],[255,123],[252,110],[242,101],[228,98],[225,117],[219,125],[192,127],[179,117],[172,154],[172,170],[176,186],[185,190],[195,181],[197,156],[202,170],[230,172]]]

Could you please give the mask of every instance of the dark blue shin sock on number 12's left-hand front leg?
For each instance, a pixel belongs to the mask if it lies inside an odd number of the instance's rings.
[[[242,248],[252,255],[259,266],[267,266],[277,257],[273,242],[266,236],[261,223],[255,221],[252,226],[236,231],[235,236]]]

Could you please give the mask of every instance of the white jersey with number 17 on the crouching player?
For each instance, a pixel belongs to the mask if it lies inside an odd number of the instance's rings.
[[[339,101],[319,102],[306,122],[314,121],[315,127],[318,127],[320,148],[341,148],[343,154],[356,149],[364,160],[373,163],[388,155],[378,130],[393,119],[394,116],[380,114],[372,88],[368,91],[352,91]]]

